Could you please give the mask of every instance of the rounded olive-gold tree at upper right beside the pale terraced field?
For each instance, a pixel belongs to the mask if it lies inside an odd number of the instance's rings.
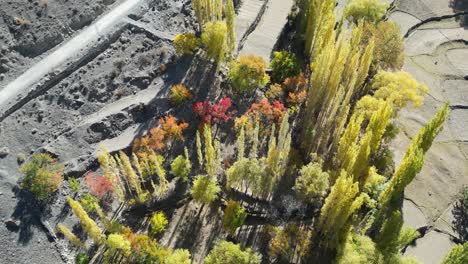
[[[371,71],[400,70],[405,60],[400,27],[396,23],[388,21],[382,21],[377,25],[365,23],[361,40],[363,46],[367,46],[372,37],[375,48]]]

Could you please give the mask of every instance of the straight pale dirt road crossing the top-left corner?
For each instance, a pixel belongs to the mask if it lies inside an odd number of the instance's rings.
[[[78,61],[85,52],[90,52],[96,43],[104,41],[112,31],[125,25],[123,18],[132,10],[146,4],[147,0],[125,0],[106,15],[83,29],[68,42],[57,48],[50,55],[39,61],[13,82],[0,90],[0,115],[14,105],[18,99],[26,96],[32,87],[47,74],[61,72],[65,63]]]

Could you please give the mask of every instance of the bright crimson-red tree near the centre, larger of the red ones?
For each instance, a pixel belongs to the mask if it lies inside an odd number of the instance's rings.
[[[229,111],[232,106],[231,99],[224,97],[216,104],[212,105],[208,101],[196,102],[192,106],[192,111],[200,118],[200,126],[211,125],[212,122],[221,124],[232,119],[233,111]]]

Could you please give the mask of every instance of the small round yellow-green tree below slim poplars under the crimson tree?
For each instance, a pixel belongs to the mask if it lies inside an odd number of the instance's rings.
[[[195,177],[192,189],[190,190],[193,199],[202,204],[213,202],[220,191],[221,188],[215,179],[202,175]]]

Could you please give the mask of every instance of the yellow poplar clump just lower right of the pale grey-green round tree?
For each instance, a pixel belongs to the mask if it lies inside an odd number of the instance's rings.
[[[320,211],[318,232],[325,247],[334,249],[345,241],[352,216],[366,197],[359,193],[358,183],[341,171]]]

